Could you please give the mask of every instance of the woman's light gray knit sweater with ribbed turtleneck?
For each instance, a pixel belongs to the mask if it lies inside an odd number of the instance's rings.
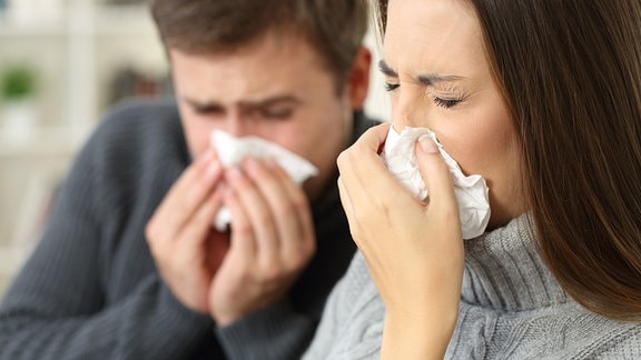
[[[641,359],[641,324],[588,311],[535,251],[527,216],[465,242],[458,322],[447,359]],[[384,307],[358,252],[305,359],[377,359]]]

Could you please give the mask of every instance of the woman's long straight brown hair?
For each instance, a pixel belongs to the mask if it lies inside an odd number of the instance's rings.
[[[588,309],[641,320],[641,2],[467,1],[520,132],[543,259]]]

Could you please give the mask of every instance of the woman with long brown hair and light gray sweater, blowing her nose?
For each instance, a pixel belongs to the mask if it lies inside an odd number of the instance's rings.
[[[490,188],[462,240],[447,167],[415,147],[430,200],[379,157],[342,153],[358,253],[307,358],[641,357],[641,2],[378,3],[392,126],[430,128]],[[379,296],[378,296],[379,293]]]

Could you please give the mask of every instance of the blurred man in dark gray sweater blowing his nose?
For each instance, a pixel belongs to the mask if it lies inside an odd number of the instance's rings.
[[[0,308],[2,359],[295,359],[354,252],[337,154],[365,128],[365,1],[156,0],[176,101],[115,110]],[[215,129],[307,159],[224,168]],[[220,207],[230,230],[211,227]]]

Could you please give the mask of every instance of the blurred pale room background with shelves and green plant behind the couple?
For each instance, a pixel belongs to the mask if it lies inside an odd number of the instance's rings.
[[[387,119],[374,53],[366,112]],[[0,297],[76,152],[116,102],[171,93],[146,0],[0,0]]]

